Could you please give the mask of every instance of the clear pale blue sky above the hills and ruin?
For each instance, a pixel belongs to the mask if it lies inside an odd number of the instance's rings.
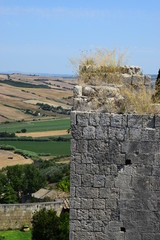
[[[159,12],[159,0],[0,0],[0,72],[72,74],[70,57],[116,48],[157,74]]]

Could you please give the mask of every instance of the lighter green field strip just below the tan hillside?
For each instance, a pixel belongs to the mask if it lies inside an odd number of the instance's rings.
[[[27,132],[43,132],[52,130],[67,130],[70,127],[70,119],[32,121],[32,122],[14,122],[1,123],[0,132],[17,132],[21,129],[27,129]]]

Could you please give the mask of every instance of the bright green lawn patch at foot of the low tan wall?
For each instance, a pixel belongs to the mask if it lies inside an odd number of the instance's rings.
[[[31,240],[32,233],[22,232],[19,230],[10,230],[10,231],[0,231],[0,236],[4,236],[5,240]]]

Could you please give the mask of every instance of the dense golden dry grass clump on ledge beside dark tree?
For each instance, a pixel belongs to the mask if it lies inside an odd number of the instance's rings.
[[[139,89],[123,86],[120,91],[124,98],[119,109],[122,113],[155,113],[151,89],[146,89],[144,85],[140,85]]]

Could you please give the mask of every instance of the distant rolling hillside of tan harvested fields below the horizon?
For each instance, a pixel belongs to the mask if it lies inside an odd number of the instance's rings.
[[[75,84],[66,76],[0,74],[0,122],[66,117]]]

